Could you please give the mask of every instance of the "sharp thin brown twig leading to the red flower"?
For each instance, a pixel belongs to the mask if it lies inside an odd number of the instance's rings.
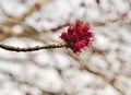
[[[61,47],[66,47],[66,43],[51,44],[51,45],[46,45],[46,46],[26,47],[26,48],[13,47],[9,45],[0,44],[0,48],[10,50],[10,51],[35,51],[35,50],[40,50],[40,49],[51,49],[51,48],[61,48]]]

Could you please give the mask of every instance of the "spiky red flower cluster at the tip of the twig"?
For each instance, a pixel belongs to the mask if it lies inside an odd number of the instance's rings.
[[[88,24],[76,21],[74,26],[70,26],[68,32],[63,32],[60,36],[66,43],[67,48],[73,50],[74,54],[79,55],[83,49],[91,46],[94,39],[94,33],[92,33]]]

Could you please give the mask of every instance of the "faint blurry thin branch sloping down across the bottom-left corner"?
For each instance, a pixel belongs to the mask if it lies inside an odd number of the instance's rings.
[[[4,70],[0,70],[0,72],[2,74],[4,74],[4,75],[8,75],[11,81],[14,81],[14,82],[16,82],[19,84],[25,84],[27,86],[37,87],[40,92],[43,92],[43,95],[56,95],[56,93],[50,92],[50,91],[45,91],[45,90],[43,90],[41,87],[39,87],[38,85],[36,85],[34,83],[20,80],[17,76],[15,76],[14,74],[12,74],[11,72],[4,71]]]

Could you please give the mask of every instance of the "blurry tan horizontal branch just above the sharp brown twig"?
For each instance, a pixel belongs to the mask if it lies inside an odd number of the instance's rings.
[[[0,25],[0,41],[10,37],[27,37],[36,40],[41,40],[40,35],[40,33],[37,33],[37,31],[31,26],[26,26],[22,32],[16,33],[10,26]]]

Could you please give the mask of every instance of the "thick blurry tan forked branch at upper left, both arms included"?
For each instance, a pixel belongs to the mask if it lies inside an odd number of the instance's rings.
[[[19,33],[13,32],[12,27],[15,24],[21,24],[28,15],[31,15],[34,11],[39,10],[39,8],[43,4],[46,4],[48,1],[49,0],[39,0],[33,7],[31,7],[23,15],[17,17],[12,17],[7,14],[9,16],[9,20],[5,23],[0,24],[0,41],[10,37],[27,37],[35,40],[44,41],[44,38],[40,38],[41,34],[32,26],[26,25],[23,27],[23,31]]]

